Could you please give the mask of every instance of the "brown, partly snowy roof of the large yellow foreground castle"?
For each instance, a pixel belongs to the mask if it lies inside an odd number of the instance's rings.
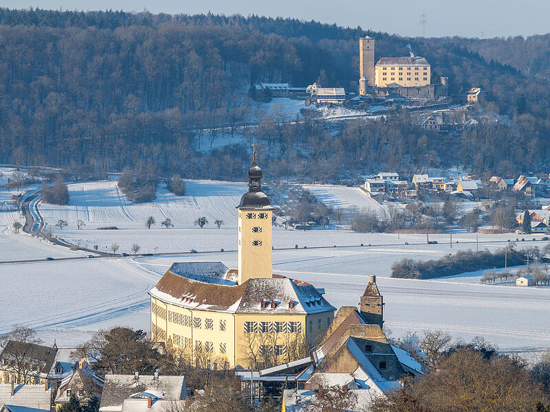
[[[217,263],[217,262],[214,262]],[[320,290],[306,282],[273,275],[271,278],[248,279],[241,285],[210,282],[205,277],[207,270],[201,270],[204,265],[211,268],[212,262],[197,262],[194,268],[200,275],[186,273],[179,264],[173,264],[159,280],[149,295],[169,304],[183,308],[212,310],[230,313],[318,313],[335,310],[322,297]],[[216,277],[216,279],[219,279]],[[267,306],[261,308],[264,301]],[[274,302],[274,308],[271,303]],[[289,303],[292,302],[292,305]]]

